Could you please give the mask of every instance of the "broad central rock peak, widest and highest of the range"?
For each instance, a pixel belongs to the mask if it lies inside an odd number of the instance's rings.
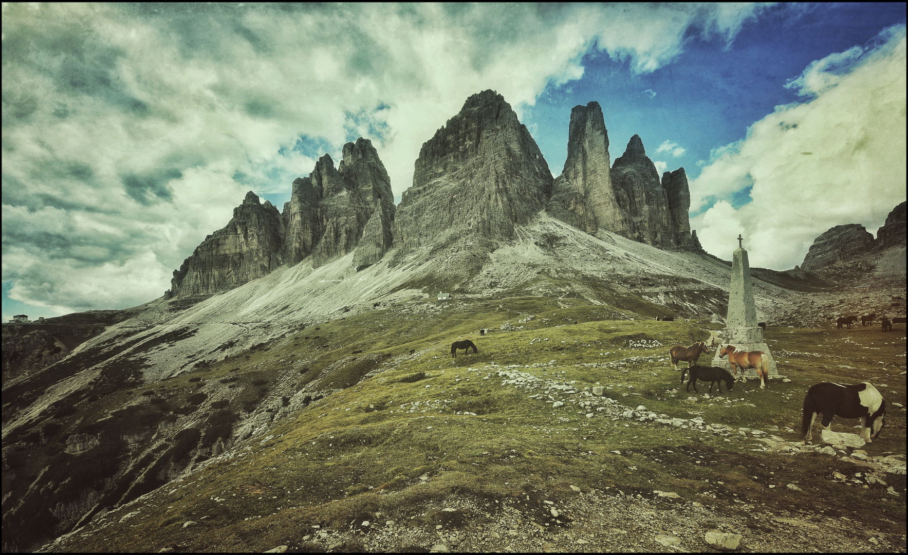
[[[422,145],[402,195],[394,245],[410,251],[469,236],[509,239],[547,203],[552,175],[527,126],[494,91],[467,99]]]

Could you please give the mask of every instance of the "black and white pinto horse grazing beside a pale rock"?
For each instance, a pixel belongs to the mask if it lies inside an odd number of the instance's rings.
[[[801,418],[801,440],[810,441],[813,437],[811,427],[816,413],[823,413],[823,428],[829,430],[834,416],[842,418],[860,418],[861,433],[864,441],[880,435],[886,418],[886,401],[880,391],[870,382],[856,385],[841,383],[814,383],[804,396],[804,415]],[[873,432],[873,433],[872,433]]]

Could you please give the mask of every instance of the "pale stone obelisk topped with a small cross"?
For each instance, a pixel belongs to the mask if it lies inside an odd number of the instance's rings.
[[[722,344],[716,348],[713,366],[720,366],[731,372],[732,366],[728,357],[719,358],[719,352],[727,344],[735,345],[744,351],[762,351],[769,357],[769,375],[777,376],[773,354],[763,339],[763,329],[756,325],[756,306],[754,289],[750,281],[750,263],[747,262],[741,235],[738,235],[738,248],[732,254],[732,282],[728,289],[728,316],[725,318],[725,329],[722,331]],[[753,370],[746,370],[745,376],[756,376]]]

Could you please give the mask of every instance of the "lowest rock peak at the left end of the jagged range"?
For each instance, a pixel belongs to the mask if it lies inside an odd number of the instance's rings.
[[[225,227],[209,235],[173,272],[174,295],[229,291],[281,265],[281,213],[250,191]]]

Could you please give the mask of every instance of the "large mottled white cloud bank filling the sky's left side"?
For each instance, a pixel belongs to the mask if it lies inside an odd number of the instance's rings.
[[[62,311],[148,300],[247,190],[311,171],[303,135],[335,162],[372,139],[399,197],[469,94],[521,114],[594,45],[648,73],[690,29],[730,41],[762,9],[5,4],[3,203],[22,227],[4,222],[3,279]]]

